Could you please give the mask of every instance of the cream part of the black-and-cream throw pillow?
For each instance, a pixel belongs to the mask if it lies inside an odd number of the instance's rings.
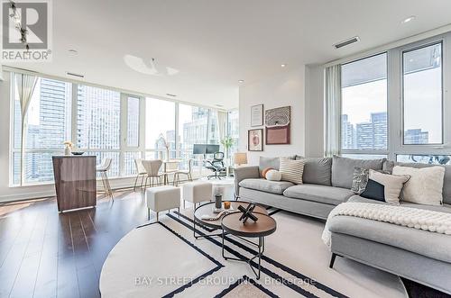
[[[400,192],[402,190],[402,186],[404,186],[410,178],[409,175],[397,176],[383,174],[381,172],[374,171],[373,169],[370,169],[370,175],[368,177],[383,185],[385,202],[394,205],[400,204]]]

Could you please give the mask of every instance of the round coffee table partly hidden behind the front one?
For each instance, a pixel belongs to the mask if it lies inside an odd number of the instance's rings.
[[[238,206],[240,206],[240,205],[243,206],[244,208],[246,208],[249,205],[249,203],[243,202],[243,201],[230,201],[230,211],[241,213],[238,210]],[[213,230],[221,230],[222,229],[222,227],[221,227],[222,218],[220,218],[216,221],[207,221],[207,220],[202,219],[202,215],[207,215],[208,217],[216,216],[217,213],[213,212],[214,209],[215,209],[215,202],[211,202],[211,203],[204,203],[204,204],[198,206],[198,208],[196,208],[196,210],[194,211],[194,237],[196,239],[203,238],[203,237],[222,236],[222,232],[218,233],[218,234],[209,234],[209,235],[198,235],[196,233],[196,223],[203,225],[203,226],[207,226],[208,228],[211,228]],[[268,214],[266,209],[264,209],[261,206],[256,206],[254,209],[254,212]]]

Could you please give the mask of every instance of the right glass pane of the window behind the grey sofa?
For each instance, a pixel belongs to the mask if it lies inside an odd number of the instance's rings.
[[[442,144],[442,43],[402,53],[404,144]]]

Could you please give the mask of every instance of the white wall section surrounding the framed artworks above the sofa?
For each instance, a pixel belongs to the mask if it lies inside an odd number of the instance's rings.
[[[260,156],[281,157],[305,155],[305,67],[290,69],[259,82],[240,86],[240,151],[247,152],[249,165],[257,165]],[[251,106],[263,104],[263,109],[291,106],[291,144],[263,145],[262,152],[247,151],[247,131],[251,128]],[[322,134],[322,132],[321,132]],[[264,140],[264,137],[263,137]]]

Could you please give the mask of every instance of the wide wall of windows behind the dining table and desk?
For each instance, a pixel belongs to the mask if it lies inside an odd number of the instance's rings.
[[[21,175],[23,185],[52,182],[51,157],[63,154],[65,140],[95,155],[97,164],[112,158],[110,177],[133,176],[136,158],[166,158],[165,144],[170,158],[181,158],[182,169],[194,159],[196,176],[205,169],[193,145],[219,144],[214,109],[40,77],[25,118],[21,170],[21,105],[14,84],[12,90],[12,185],[21,184]]]

